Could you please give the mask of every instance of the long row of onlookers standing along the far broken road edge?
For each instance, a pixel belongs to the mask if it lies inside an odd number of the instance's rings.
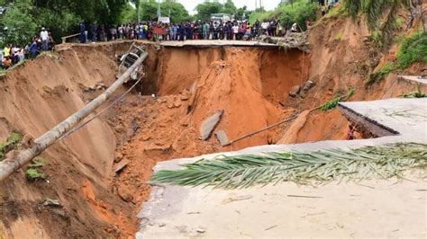
[[[306,22],[310,26],[310,22]],[[114,27],[97,26],[92,23],[88,28],[82,22],[79,26],[80,42],[128,40],[250,40],[260,35],[283,37],[287,32],[298,31],[294,23],[285,28],[280,21],[268,22],[227,21],[227,22],[132,22]]]

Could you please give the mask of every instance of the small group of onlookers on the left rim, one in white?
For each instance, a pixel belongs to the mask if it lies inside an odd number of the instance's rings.
[[[4,49],[0,49],[1,64],[0,69],[8,69],[22,62],[26,58],[36,58],[41,51],[54,49],[55,42],[50,32],[41,28],[40,35],[34,36],[32,42],[25,46],[6,44]]]

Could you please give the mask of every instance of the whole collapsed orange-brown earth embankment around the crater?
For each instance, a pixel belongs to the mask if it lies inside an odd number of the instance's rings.
[[[134,215],[150,192],[146,181],[159,160],[345,138],[348,122],[336,110],[303,115],[227,147],[215,137],[200,140],[199,128],[214,112],[223,111],[217,129],[234,139],[311,110],[351,87],[351,101],[413,91],[412,85],[394,82],[393,75],[365,86],[368,73],[382,58],[364,41],[367,35],[362,25],[337,18],[311,30],[310,54],[255,48],[156,49],[149,44],[141,94],[128,95],[100,119],[44,152],[41,171],[47,181],[25,180],[24,168],[2,182],[0,235],[132,235],[137,226]],[[9,72],[0,79],[0,140],[14,130],[27,139],[39,137],[77,111],[114,81],[116,56],[129,46],[130,42],[59,46],[57,54]],[[294,86],[307,80],[315,86],[289,96]],[[28,141],[23,145],[31,144]],[[126,166],[116,174],[117,164]],[[58,199],[60,207],[43,206],[45,199]]]

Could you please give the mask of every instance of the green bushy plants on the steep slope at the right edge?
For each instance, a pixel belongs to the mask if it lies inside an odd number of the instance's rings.
[[[404,69],[415,62],[427,62],[427,33],[422,31],[414,33],[402,40],[397,50],[395,62],[386,63],[377,72],[368,76],[367,84],[372,84],[396,69]]]

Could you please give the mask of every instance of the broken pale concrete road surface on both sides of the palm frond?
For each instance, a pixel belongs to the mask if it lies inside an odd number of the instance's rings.
[[[256,146],[225,155],[396,142],[427,144],[427,99],[342,102],[340,109],[360,125],[381,129],[377,134],[384,137]],[[154,171],[179,169],[181,164],[218,155],[224,153],[162,162]],[[414,173],[411,175],[408,178],[413,181],[330,183],[319,188],[296,186],[291,182],[245,190],[153,185],[150,199],[142,205],[138,215],[141,230],[136,236],[425,238],[427,182],[415,177]],[[304,198],[306,196],[309,198]]]

